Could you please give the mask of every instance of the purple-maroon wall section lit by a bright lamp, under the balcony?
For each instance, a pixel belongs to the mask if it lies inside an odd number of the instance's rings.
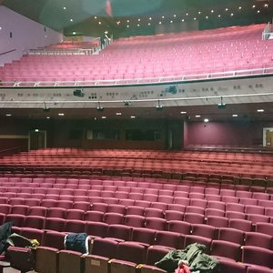
[[[203,122],[185,125],[185,146],[254,147],[263,144],[263,127],[273,122]]]

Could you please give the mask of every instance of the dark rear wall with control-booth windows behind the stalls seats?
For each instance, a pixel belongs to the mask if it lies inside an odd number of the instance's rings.
[[[9,118],[7,122],[7,119],[3,118],[0,119],[0,128],[2,137],[28,136],[28,132],[35,129],[46,131],[47,147],[179,149],[183,144],[182,120]],[[169,130],[174,133],[174,147],[167,146]],[[87,136],[90,139],[87,139]],[[3,141],[4,147],[5,145],[8,147],[18,145],[15,140],[8,145],[6,141]]]

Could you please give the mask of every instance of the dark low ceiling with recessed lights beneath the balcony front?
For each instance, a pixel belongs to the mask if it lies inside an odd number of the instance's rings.
[[[263,112],[258,112],[263,109]],[[62,113],[64,116],[59,116]],[[116,113],[120,113],[116,115]],[[9,114],[11,116],[5,116]],[[233,116],[238,115],[238,116]],[[105,107],[103,111],[93,108],[51,108],[45,111],[43,108],[1,108],[0,116],[2,118],[31,118],[31,119],[128,119],[128,118],[165,118],[165,119],[185,119],[187,121],[203,121],[208,118],[209,121],[272,121],[273,104],[236,104],[226,105],[219,109],[215,106],[172,106],[157,109],[155,107],[130,107],[120,108]],[[104,118],[103,116],[106,116]],[[133,116],[133,117],[132,117]],[[134,117],[135,116],[135,117]]]

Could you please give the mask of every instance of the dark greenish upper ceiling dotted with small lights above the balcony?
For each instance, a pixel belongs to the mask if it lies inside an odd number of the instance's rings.
[[[158,24],[196,21],[199,29],[268,23],[273,0],[1,0],[2,5],[65,34],[153,34]],[[0,5],[1,5],[0,2]],[[161,22],[161,23],[159,23]]]

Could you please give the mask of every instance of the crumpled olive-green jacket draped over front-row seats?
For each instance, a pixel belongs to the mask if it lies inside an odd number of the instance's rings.
[[[206,246],[195,243],[188,245],[183,250],[171,250],[160,261],[155,263],[157,268],[162,268],[167,272],[174,272],[178,266],[178,261],[187,260],[191,272],[211,273],[217,269],[216,258],[208,256],[204,251]]]

